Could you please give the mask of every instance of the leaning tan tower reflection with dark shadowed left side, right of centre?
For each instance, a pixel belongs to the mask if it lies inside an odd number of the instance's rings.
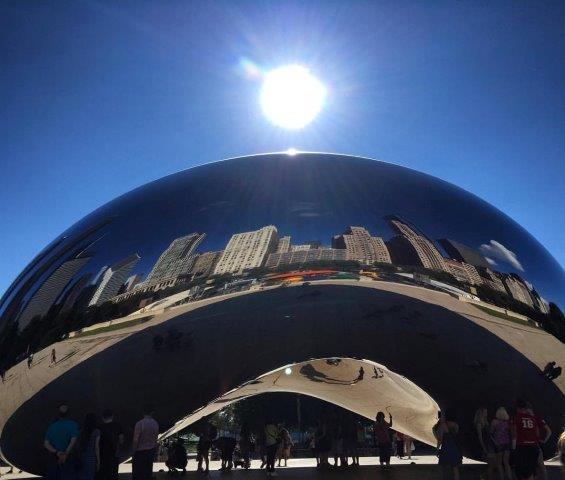
[[[396,215],[388,215],[385,218],[390,227],[399,234],[386,242],[393,263],[420,265],[430,270],[451,273],[443,256],[431,240]]]

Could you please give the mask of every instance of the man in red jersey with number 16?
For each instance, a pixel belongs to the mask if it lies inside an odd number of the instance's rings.
[[[512,447],[516,450],[516,476],[533,479],[540,454],[539,442],[545,443],[551,430],[524,400],[518,400],[516,414],[510,422]]]

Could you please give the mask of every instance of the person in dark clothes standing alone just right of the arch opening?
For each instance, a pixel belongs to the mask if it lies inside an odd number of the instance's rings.
[[[441,415],[433,431],[438,442],[438,460],[439,465],[443,467],[444,478],[449,478],[451,473],[454,480],[459,480],[459,466],[463,463],[463,455],[457,440],[459,424],[455,412],[447,410],[445,417]]]

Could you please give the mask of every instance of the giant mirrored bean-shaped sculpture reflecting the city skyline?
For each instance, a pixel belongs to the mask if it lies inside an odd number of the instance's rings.
[[[195,167],[94,211],[7,290],[1,455],[42,473],[63,401],[76,419],[112,408],[127,432],[152,403],[166,436],[274,391],[386,409],[428,444],[455,408],[475,458],[475,410],[526,396],[554,442],[565,381],[542,370],[565,366],[564,280],[514,221],[406,168],[306,153]]]

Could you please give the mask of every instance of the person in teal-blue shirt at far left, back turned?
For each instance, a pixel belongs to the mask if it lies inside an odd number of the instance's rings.
[[[48,480],[74,480],[76,478],[75,466],[70,458],[73,447],[78,438],[78,425],[68,417],[69,407],[59,405],[59,418],[49,425],[45,433],[43,445],[49,452],[47,467]]]

